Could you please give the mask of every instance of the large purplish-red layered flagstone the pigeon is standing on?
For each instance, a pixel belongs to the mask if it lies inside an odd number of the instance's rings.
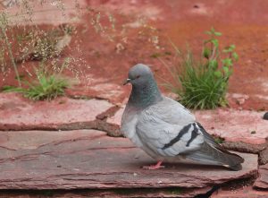
[[[155,163],[125,138],[96,130],[0,133],[0,189],[203,188],[255,176],[257,155],[239,153],[243,169]]]

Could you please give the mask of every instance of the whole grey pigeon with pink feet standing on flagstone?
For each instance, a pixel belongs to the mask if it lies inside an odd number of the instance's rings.
[[[147,65],[134,65],[124,82],[132,84],[121,118],[121,132],[157,163],[143,168],[164,168],[180,161],[240,170],[244,159],[226,151],[178,101],[163,96]]]

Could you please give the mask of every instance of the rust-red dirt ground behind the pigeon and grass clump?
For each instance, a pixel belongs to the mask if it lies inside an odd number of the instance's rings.
[[[174,50],[169,39],[180,48],[188,43],[198,52],[205,39],[205,30],[214,26],[222,32],[222,47],[235,44],[239,54],[239,63],[230,78],[230,106],[268,109],[268,1],[88,0],[87,4],[101,13],[113,13],[115,30],[109,28],[105,33],[96,33],[88,20],[92,13],[85,14],[84,23],[77,25],[71,47],[63,55],[71,54],[78,60],[69,73],[77,73],[81,84],[69,91],[71,94],[96,96],[98,91],[90,86],[100,82],[121,86],[130,66],[137,63],[152,65],[159,82],[171,80],[171,74],[154,56],[160,55],[168,65],[174,65]],[[147,25],[138,27],[140,20],[146,20]],[[106,21],[107,17],[104,24],[108,27]],[[113,41],[109,41],[109,35],[113,36]],[[36,63],[23,66],[29,68],[31,65]],[[4,80],[0,86],[14,83],[13,73],[7,74]],[[110,100],[121,102],[125,99],[130,88],[122,89],[119,97]],[[239,104],[234,94],[246,98],[245,102]]]

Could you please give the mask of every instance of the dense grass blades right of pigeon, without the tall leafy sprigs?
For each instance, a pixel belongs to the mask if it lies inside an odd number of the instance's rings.
[[[209,67],[196,63],[191,54],[182,66],[184,70],[178,79],[181,89],[175,90],[182,105],[187,108],[210,109],[226,104],[228,82],[224,77],[217,77]]]

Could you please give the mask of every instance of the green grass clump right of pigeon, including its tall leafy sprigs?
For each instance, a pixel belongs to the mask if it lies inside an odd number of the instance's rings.
[[[234,62],[239,56],[235,46],[230,45],[222,50],[218,37],[222,36],[212,28],[206,31],[209,39],[205,39],[200,59],[196,59],[190,50],[183,55],[178,48],[182,61],[181,73],[175,72],[173,78],[180,86],[172,86],[172,90],[180,96],[180,103],[187,108],[208,109],[226,106],[225,99],[228,82],[233,71]]]

